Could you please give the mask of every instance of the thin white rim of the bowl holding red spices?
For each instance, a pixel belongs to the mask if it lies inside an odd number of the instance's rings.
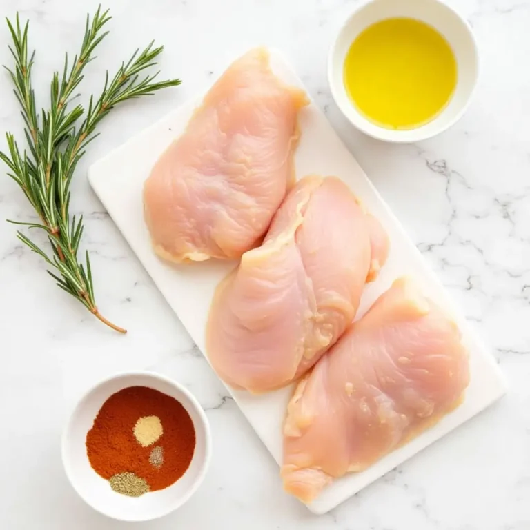
[[[199,469],[199,472],[197,473],[197,476],[195,480],[193,481],[192,486],[184,495],[181,495],[177,499],[177,502],[174,503],[168,503],[168,508],[164,511],[161,511],[161,513],[157,513],[155,516],[147,516],[147,517],[135,517],[135,518],[127,518],[127,517],[117,517],[114,515],[111,515],[110,513],[106,512],[104,509],[101,509],[101,507],[97,507],[92,502],[88,502],[88,500],[84,497],[84,495],[81,494],[79,489],[77,489],[77,486],[75,484],[75,480],[73,479],[74,473],[72,471],[72,468],[70,467],[70,464],[67,462],[70,462],[70,459],[66,458],[66,452],[67,452],[67,446],[68,446],[68,433],[70,431],[70,427],[72,426],[72,422],[77,416],[77,413],[79,412],[79,408],[81,404],[92,394],[95,392],[99,386],[102,386],[110,381],[113,380],[119,380],[121,378],[126,378],[130,376],[141,376],[141,377],[148,377],[153,380],[159,380],[162,382],[166,382],[167,384],[170,384],[170,386],[173,386],[177,391],[185,395],[188,400],[190,401],[191,405],[193,406],[193,409],[197,412],[200,422],[202,422],[202,425],[204,426],[204,460],[202,461],[201,467]],[[126,386],[124,386],[126,388]],[[156,389],[155,389],[156,390]],[[63,462],[63,469],[66,473],[66,476],[68,478],[68,482],[70,482],[70,485],[75,490],[77,495],[88,504],[92,509],[95,511],[101,513],[101,515],[104,515],[110,519],[113,520],[119,520],[124,522],[145,522],[145,521],[151,521],[156,520],[161,517],[167,516],[169,513],[172,513],[173,511],[179,509],[181,506],[183,506],[190,498],[191,496],[199,489],[199,486],[202,484],[204,477],[206,476],[206,472],[208,471],[208,467],[210,465],[212,455],[212,437],[211,437],[211,431],[210,431],[210,423],[208,422],[208,417],[206,416],[206,412],[202,408],[201,404],[197,400],[197,397],[193,395],[188,389],[186,389],[185,386],[183,386],[181,383],[176,382],[173,379],[170,379],[169,377],[166,377],[165,375],[161,375],[159,373],[149,371],[149,370],[132,370],[132,371],[125,371],[125,372],[118,372],[114,375],[109,375],[108,377],[105,377],[102,380],[99,380],[97,383],[92,384],[75,402],[75,405],[72,407],[72,410],[70,411],[70,415],[68,416],[68,420],[66,420],[66,423],[63,426],[63,432],[61,435],[61,460]]]

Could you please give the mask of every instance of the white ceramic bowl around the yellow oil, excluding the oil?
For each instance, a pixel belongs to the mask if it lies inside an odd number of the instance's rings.
[[[357,35],[382,19],[409,17],[424,21],[449,41],[458,64],[458,81],[449,105],[421,127],[392,130],[373,124],[357,111],[344,88],[344,59]],[[372,0],[355,9],[340,29],[328,58],[333,98],[344,115],[363,133],[384,141],[411,142],[433,137],[457,121],[466,110],[478,79],[478,50],[467,21],[439,0]]]

